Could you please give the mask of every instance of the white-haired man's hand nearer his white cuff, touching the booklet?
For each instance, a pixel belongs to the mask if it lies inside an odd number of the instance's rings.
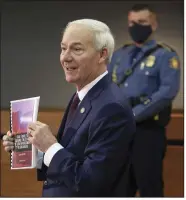
[[[44,153],[57,142],[49,126],[39,121],[28,125],[27,134],[29,142]]]

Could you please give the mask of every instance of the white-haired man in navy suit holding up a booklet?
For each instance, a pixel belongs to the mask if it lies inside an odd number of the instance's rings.
[[[38,169],[44,197],[125,196],[135,122],[119,87],[108,78],[113,50],[113,36],[102,22],[76,20],[64,31],[60,61],[77,92],[57,138],[46,124],[28,126],[29,141],[44,153]]]

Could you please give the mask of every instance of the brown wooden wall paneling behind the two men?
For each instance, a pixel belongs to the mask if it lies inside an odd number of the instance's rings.
[[[48,124],[56,135],[62,117],[62,111],[41,111],[38,120]],[[5,133],[8,129],[9,113],[1,111],[1,133]],[[167,131],[169,139],[183,139],[183,114],[173,114]],[[183,154],[183,146],[168,146],[167,148],[164,160],[166,197],[183,197],[184,195]],[[1,144],[1,196],[40,197],[42,182],[36,180],[36,170],[10,170],[9,163],[9,154],[4,152]]]

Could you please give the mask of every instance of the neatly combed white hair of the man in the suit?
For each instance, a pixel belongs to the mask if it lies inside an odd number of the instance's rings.
[[[103,48],[106,48],[108,51],[108,60],[109,62],[111,61],[115,42],[110,28],[105,23],[94,19],[79,19],[69,22],[65,30],[72,24],[82,24],[90,29],[93,32],[96,50],[100,51]]]

